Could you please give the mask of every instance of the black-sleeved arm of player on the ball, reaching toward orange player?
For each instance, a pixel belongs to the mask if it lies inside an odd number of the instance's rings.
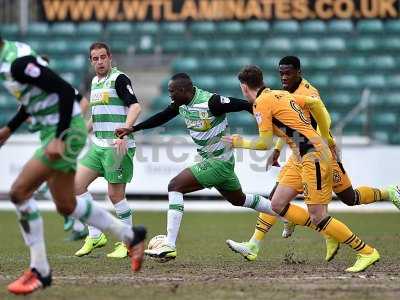
[[[253,105],[248,101],[234,97],[223,97],[217,94],[214,94],[208,100],[208,107],[214,116],[238,111],[253,113]]]

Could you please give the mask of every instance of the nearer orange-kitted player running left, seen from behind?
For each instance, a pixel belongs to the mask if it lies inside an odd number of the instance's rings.
[[[224,139],[233,148],[268,150],[272,148],[273,135],[283,138],[293,151],[295,164],[291,170],[292,178],[298,181],[299,186],[303,186],[308,213],[290,204],[298,192],[283,184],[278,184],[272,195],[273,210],[295,224],[316,229],[352,247],[357,252],[357,261],[346,271],[360,272],[377,262],[380,256],[376,249],[359,239],[345,224],[327,215],[333,185],[333,158],[328,145],[334,146],[334,141],[322,102],[315,97],[266,88],[262,71],[256,66],[245,67],[238,78],[243,95],[254,104],[260,136],[256,141],[243,139],[239,135]],[[305,106],[324,108],[325,113],[312,112],[321,135],[304,115],[302,107]]]

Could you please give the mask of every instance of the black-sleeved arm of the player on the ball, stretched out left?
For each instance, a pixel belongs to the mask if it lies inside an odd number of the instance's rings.
[[[143,129],[151,129],[155,128],[158,126],[161,126],[168,121],[172,120],[179,114],[178,107],[175,106],[174,103],[171,103],[167,108],[165,108],[163,111],[160,111],[159,113],[156,113],[155,115],[151,116],[147,120],[136,124],[130,128],[117,128],[115,130],[115,134],[119,137],[122,138],[125,135],[128,135],[132,132],[136,132],[139,130]]]

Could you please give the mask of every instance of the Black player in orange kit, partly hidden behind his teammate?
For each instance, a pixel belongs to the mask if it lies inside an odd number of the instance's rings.
[[[295,56],[286,56],[279,62],[279,73],[281,77],[282,87],[284,90],[294,95],[305,95],[314,97],[322,102],[319,92],[314,88],[306,79],[301,76],[300,60]],[[316,121],[312,114],[307,111],[305,107],[305,116],[310,118],[311,124],[314,129],[317,129]],[[330,122],[330,117],[327,115]],[[317,129],[317,131],[319,131]],[[283,146],[282,139],[275,143],[275,149],[271,156],[268,158],[268,164],[279,166],[278,159]],[[297,191],[298,194],[303,193],[303,186],[299,184],[295,171],[296,160],[293,155],[289,158],[285,166],[281,169],[275,187],[270,193],[270,199],[278,184],[284,185],[287,188]],[[377,189],[368,186],[361,186],[353,189],[351,181],[346,173],[340,157],[334,157],[332,160],[333,170],[333,191],[338,198],[349,206],[369,204],[382,200],[391,200],[394,205],[400,208],[400,195],[396,192],[396,187],[389,187],[388,189]],[[254,234],[248,242],[238,243],[232,240],[227,240],[228,246],[235,252],[241,254],[249,261],[257,259],[260,250],[260,243],[265,238],[267,232],[275,224],[276,218],[267,214],[260,213],[257,218],[257,224]],[[291,224],[291,223],[289,223]],[[282,233],[283,237],[289,237],[294,229],[294,226],[285,228]],[[338,252],[340,243],[331,237],[325,235],[326,239],[326,261],[331,261]]]

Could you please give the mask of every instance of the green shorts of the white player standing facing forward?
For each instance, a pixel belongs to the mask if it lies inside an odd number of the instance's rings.
[[[98,172],[109,183],[128,183],[133,176],[135,148],[128,149],[123,157],[118,157],[115,148],[92,145],[79,163]]]

